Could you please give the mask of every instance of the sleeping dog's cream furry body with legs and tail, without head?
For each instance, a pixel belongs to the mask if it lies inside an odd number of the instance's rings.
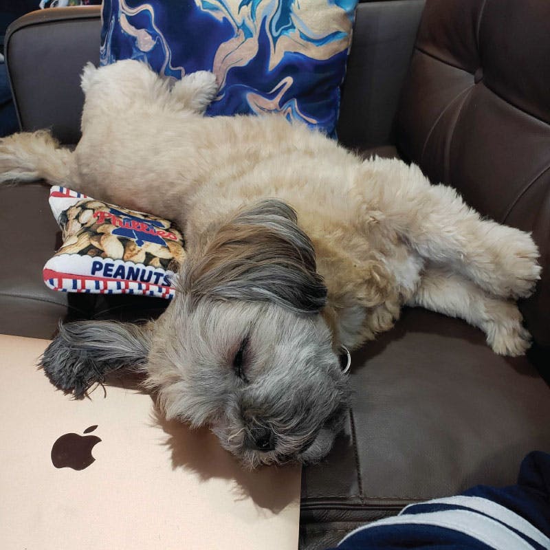
[[[217,92],[207,72],[170,87],[125,61],[87,65],[82,85],[75,153],[46,132],[13,135],[0,147],[3,181],[43,177],[175,219],[190,247],[243,206],[276,197],[298,212],[314,243],[338,342],[357,347],[390,328],[408,303],[482,328],[497,353],[527,348],[520,314],[503,300],[531,293],[540,274],[536,245],[528,234],[482,220],[452,188],[430,186],[416,166],[363,161],[274,115],[202,117]],[[426,269],[426,261],[435,267]],[[466,288],[477,312],[457,303]],[[349,313],[357,307],[363,314]],[[362,330],[349,326],[350,316]]]

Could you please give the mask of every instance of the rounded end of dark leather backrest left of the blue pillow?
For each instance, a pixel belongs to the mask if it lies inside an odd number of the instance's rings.
[[[80,139],[80,73],[99,63],[100,6],[31,12],[5,35],[5,60],[19,125],[52,129],[63,143]]]

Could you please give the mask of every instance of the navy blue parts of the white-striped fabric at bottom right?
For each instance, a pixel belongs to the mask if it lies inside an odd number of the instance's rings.
[[[476,496],[491,500],[518,516],[521,516],[544,536],[550,536],[550,454],[531,452],[522,461],[517,485],[496,488],[479,485],[467,490],[464,496]],[[399,518],[414,518],[417,514],[436,514],[443,510],[465,509],[461,506],[445,503],[419,503],[407,507]],[[478,514],[482,518],[485,514]],[[426,517],[426,516],[424,516]],[[399,525],[397,520],[389,520],[384,525],[373,525],[358,529],[345,538],[338,550],[489,550],[490,546],[473,536],[460,531],[463,527],[457,524],[455,529],[434,527],[419,523]],[[517,531],[505,522],[499,521],[508,529],[520,536],[533,550],[547,550],[550,545],[540,544]],[[549,543],[550,544],[550,543]],[[509,550],[514,550],[510,548]]]

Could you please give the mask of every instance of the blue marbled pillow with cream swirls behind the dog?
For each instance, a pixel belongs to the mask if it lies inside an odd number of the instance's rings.
[[[277,111],[335,135],[358,0],[104,0],[101,64],[209,70],[208,115]]]

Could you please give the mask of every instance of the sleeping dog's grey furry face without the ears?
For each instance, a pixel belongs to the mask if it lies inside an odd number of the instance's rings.
[[[181,295],[174,306],[148,358],[168,418],[210,424],[248,467],[327,454],[348,389],[320,316]]]

